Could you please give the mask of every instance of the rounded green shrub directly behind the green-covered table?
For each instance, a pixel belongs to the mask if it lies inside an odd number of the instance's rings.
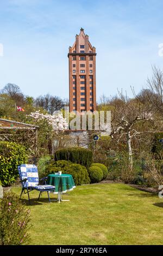
[[[74,164],[66,160],[51,161],[46,169],[45,176],[58,171],[61,171],[62,174],[71,174],[76,185],[90,183],[89,174],[85,166],[80,164]]]

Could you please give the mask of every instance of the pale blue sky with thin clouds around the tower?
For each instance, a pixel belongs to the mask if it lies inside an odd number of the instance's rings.
[[[162,0],[0,0],[0,89],[68,98],[68,47],[84,28],[97,51],[97,99],[117,88],[132,96],[152,65],[163,69]]]

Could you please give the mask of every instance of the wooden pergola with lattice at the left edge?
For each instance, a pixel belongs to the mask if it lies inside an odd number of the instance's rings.
[[[0,141],[17,142],[28,147],[30,154],[37,153],[39,126],[0,118]]]

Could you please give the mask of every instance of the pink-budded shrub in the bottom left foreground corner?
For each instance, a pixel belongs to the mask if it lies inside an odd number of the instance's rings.
[[[30,211],[14,193],[0,201],[0,245],[21,245],[27,240]]]

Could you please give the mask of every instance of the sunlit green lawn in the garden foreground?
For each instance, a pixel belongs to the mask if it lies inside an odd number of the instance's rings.
[[[17,194],[21,188],[12,189]],[[78,186],[67,202],[31,192],[30,245],[161,245],[163,200],[126,184]],[[56,195],[51,194],[51,198]],[[23,196],[27,202],[27,195]]]

